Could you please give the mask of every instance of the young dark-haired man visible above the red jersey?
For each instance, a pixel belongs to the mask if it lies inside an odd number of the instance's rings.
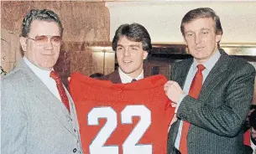
[[[118,59],[118,70],[100,78],[112,83],[127,84],[144,79],[148,73],[144,69],[144,59],[152,49],[151,38],[144,26],[138,23],[121,25],[112,40],[112,49]]]

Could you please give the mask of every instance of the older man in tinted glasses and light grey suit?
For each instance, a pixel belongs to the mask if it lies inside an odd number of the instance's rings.
[[[62,33],[50,10],[31,10],[24,18],[24,58],[2,80],[2,153],[82,152],[73,100],[53,69]]]

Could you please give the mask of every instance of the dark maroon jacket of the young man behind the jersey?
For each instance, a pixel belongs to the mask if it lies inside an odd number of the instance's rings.
[[[148,77],[150,74],[147,69],[144,69],[144,78]],[[110,80],[113,84],[122,84],[118,69],[113,71],[111,74],[107,74],[98,78],[99,80]]]

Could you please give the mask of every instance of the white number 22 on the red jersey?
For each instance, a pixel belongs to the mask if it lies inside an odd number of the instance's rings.
[[[137,126],[123,142],[123,154],[152,154],[152,145],[138,145],[138,141],[144,136],[145,131],[151,124],[151,112],[144,105],[127,105],[121,112],[122,124],[132,124],[133,116],[139,116]],[[99,125],[99,119],[107,119],[101,131],[98,132],[94,141],[89,146],[91,154],[118,154],[118,145],[104,146],[107,139],[118,126],[117,112],[110,106],[93,108],[88,114],[88,125]]]

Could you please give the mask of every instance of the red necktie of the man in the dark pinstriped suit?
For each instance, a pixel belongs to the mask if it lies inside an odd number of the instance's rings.
[[[200,94],[201,87],[202,87],[202,71],[206,69],[204,65],[198,64],[197,65],[197,72],[192,80],[191,83],[191,88],[189,95],[195,99],[198,98],[198,95]],[[182,131],[181,131],[181,138],[180,138],[180,152],[181,154],[186,154],[187,153],[187,141],[186,141],[186,136],[188,134],[189,128],[190,128],[190,123],[188,121],[183,121],[183,126],[182,126]]]

